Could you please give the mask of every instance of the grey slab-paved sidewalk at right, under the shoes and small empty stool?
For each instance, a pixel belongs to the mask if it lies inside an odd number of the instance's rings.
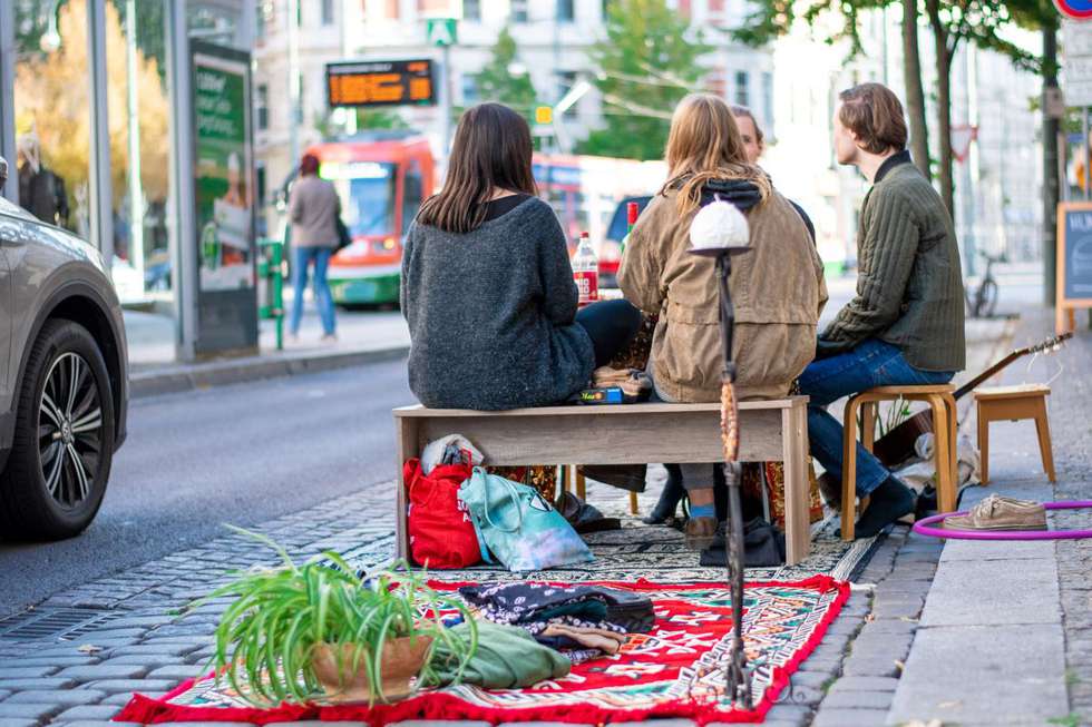
[[[1053,333],[1050,311],[1026,311],[1014,345]],[[1061,367],[1061,369],[1060,369]],[[991,482],[973,488],[966,509],[989,493],[1039,501],[1092,499],[1092,338],[1013,364],[996,383],[1049,381],[1057,484],[1043,473],[1032,422],[991,425]],[[976,431],[973,417],[964,431]],[[1086,511],[1053,517],[1052,528],[1088,528]],[[1092,542],[948,541],[886,724],[1092,723]]]

